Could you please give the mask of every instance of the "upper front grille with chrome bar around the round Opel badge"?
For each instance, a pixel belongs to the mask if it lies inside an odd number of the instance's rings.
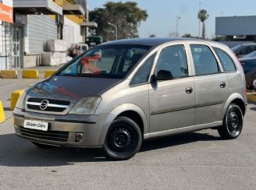
[[[40,104],[43,100],[48,100],[48,106],[46,109],[41,110]],[[69,107],[70,101],[30,97],[26,104],[27,108],[30,110],[62,112],[65,111],[67,107]]]

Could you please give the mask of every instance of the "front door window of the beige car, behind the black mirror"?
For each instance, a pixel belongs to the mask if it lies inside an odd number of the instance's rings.
[[[187,57],[183,45],[162,49],[156,65],[158,79],[176,79],[188,75]]]

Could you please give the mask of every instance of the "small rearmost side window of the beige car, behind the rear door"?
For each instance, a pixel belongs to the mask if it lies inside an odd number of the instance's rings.
[[[229,57],[229,55],[222,51],[219,48],[213,48],[215,50],[215,53],[218,55],[220,62],[222,63],[222,67],[225,72],[233,72],[236,71],[236,66],[233,62],[233,60]]]

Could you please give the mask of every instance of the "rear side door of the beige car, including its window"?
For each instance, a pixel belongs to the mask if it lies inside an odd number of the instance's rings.
[[[194,64],[195,125],[222,121],[228,94],[228,79],[212,48],[203,42],[189,43]]]

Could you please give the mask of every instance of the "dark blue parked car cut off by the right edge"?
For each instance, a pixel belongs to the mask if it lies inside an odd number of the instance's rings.
[[[253,81],[256,79],[256,58],[240,58],[244,69],[247,88],[253,87]]]

